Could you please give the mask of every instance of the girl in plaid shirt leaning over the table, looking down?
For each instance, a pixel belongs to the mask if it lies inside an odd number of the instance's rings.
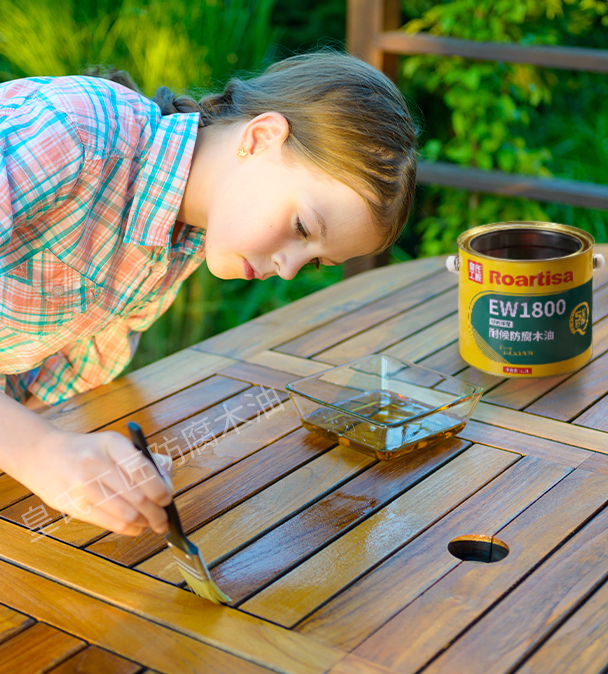
[[[204,258],[219,278],[291,279],[390,246],[416,132],[390,80],[337,53],[198,103],[113,78],[0,86],[0,468],[135,536],[166,530],[169,487],[148,466],[125,489],[120,466],[140,457],[125,437],[32,409],[115,378]]]

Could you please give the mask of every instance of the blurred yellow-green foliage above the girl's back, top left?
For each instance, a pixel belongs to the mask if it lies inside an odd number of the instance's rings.
[[[0,0],[4,79],[68,75],[104,63],[151,96],[208,88],[272,55],[275,0]]]

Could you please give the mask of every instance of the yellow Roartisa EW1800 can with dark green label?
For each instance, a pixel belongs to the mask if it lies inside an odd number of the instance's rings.
[[[587,232],[549,222],[467,230],[446,266],[459,275],[462,358],[500,377],[552,377],[591,358],[593,254]]]

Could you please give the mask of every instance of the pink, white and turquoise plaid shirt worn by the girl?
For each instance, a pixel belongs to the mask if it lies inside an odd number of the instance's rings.
[[[197,114],[88,77],[0,85],[0,390],[52,405],[114,379],[204,258],[171,246]]]

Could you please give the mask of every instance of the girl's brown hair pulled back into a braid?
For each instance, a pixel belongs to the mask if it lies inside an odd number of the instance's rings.
[[[124,71],[87,74],[137,90]],[[281,113],[289,123],[285,144],[293,156],[365,199],[383,238],[379,251],[399,237],[414,197],[417,131],[397,87],[364,61],[338,52],[303,54],[257,77],[231,79],[222,93],[198,102],[176,97],[167,87],[154,101],[163,115],[200,112],[200,126]]]

